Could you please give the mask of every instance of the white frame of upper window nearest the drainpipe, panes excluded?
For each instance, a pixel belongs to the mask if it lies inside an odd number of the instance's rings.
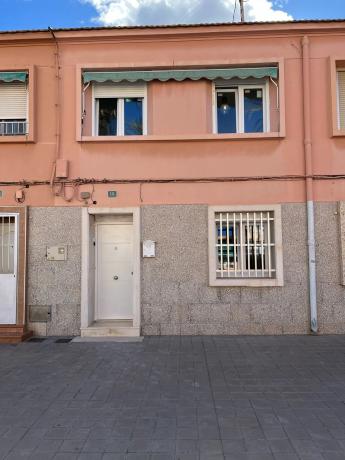
[[[232,85],[229,81],[228,85],[222,83],[217,85],[213,82],[212,88],[212,106],[213,106],[213,133],[214,134],[226,134],[218,133],[218,113],[217,113],[217,94],[226,92],[236,93],[236,133],[228,134],[259,134],[249,133],[244,131],[244,90],[245,89],[261,89],[262,91],[262,108],[263,108],[263,133],[270,131],[270,101],[269,101],[269,81],[255,84],[234,84]]]

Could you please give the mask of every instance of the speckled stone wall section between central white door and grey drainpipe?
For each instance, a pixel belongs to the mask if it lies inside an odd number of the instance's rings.
[[[282,206],[284,286],[208,286],[207,206],[142,208],[142,239],[157,242],[142,261],[146,334],[305,334],[309,331],[306,211]]]

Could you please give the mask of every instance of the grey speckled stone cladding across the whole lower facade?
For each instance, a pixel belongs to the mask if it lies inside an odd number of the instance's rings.
[[[156,241],[141,261],[142,333],[308,333],[305,209],[282,205],[284,286],[227,288],[208,286],[207,206],[142,207],[141,239]],[[315,206],[320,333],[345,333],[340,220],[338,203]],[[50,245],[67,245],[67,261],[47,261]],[[80,271],[81,208],[29,208],[27,310],[51,308],[36,334],[80,334]]]

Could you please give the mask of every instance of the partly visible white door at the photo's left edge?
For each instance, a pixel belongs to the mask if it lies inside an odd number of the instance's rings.
[[[17,224],[16,214],[0,213],[0,324],[17,320]]]

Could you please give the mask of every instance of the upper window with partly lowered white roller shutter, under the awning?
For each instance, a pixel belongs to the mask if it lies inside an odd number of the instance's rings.
[[[143,84],[93,83],[95,136],[146,134],[146,86]]]

